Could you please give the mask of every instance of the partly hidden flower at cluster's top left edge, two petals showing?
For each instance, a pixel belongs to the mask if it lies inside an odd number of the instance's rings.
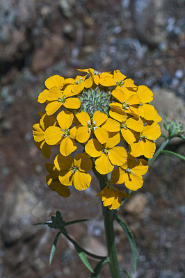
[[[47,89],[43,90],[43,92],[40,92],[40,95],[38,96],[38,102],[40,102],[40,104],[44,104],[47,101],[49,89],[51,89],[52,87],[58,87],[61,90],[63,88],[64,82],[65,79],[62,76],[54,75],[49,77],[45,81],[45,86]]]

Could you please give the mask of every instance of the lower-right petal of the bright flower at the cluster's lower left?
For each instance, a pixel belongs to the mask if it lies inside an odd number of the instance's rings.
[[[80,171],[74,173],[73,184],[77,190],[86,190],[90,186],[90,181],[90,174]]]

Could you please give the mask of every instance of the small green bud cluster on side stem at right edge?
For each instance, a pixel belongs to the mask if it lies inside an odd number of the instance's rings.
[[[184,133],[182,122],[175,122],[175,120],[172,120],[172,122],[166,121],[163,123],[163,126],[168,131],[170,138],[181,136]]]

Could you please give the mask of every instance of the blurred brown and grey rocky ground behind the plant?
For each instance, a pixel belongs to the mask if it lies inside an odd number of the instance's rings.
[[[120,70],[153,90],[160,115],[184,122],[184,15],[183,0],[0,0],[0,277],[90,277],[62,237],[49,267],[56,231],[33,224],[56,210],[66,221],[89,218],[67,230],[90,252],[106,254],[96,179],[67,199],[45,185],[48,161],[32,136],[45,79],[75,77],[77,68]],[[169,148],[185,152],[181,140]],[[161,155],[119,212],[138,247],[133,278],[185,277],[184,178],[184,163]],[[117,225],[115,233],[120,266],[132,272],[127,238]],[[100,277],[108,273],[104,266]]]

